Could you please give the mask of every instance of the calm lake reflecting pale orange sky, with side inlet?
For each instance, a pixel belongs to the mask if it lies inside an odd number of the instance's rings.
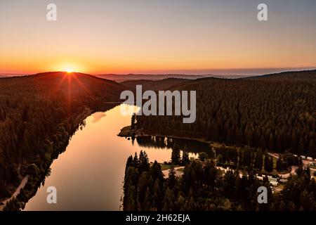
[[[122,210],[122,182],[129,155],[145,150],[150,162],[169,161],[172,141],[187,146],[191,156],[210,151],[209,145],[198,141],[117,136],[130,124],[131,116],[121,115],[120,106],[88,116],[85,127],[76,131],[65,152],[53,161],[51,175],[25,210]],[[57,204],[46,202],[49,186],[57,189]]]

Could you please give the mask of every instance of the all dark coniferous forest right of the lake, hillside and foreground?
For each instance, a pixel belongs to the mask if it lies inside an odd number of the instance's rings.
[[[133,127],[138,134],[168,136],[171,146],[173,137],[221,146],[191,160],[185,147],[181,160],[178,146],[173,146],[168,176],[162,174],[163,164],[148,163],[146,153],[130,156],[124,210],[316,210],[315,173],[300,158],[316,157],[316,71],[204,78],[170,89],[197,91],[197,120],[183,124],[180,116],[137,115]],[[280,157],[273,162],[269,153]],[[177,176],[174,167],[179,165],[184,169]],[[297,168],[295,173],[273,189],[267,174],[291,168]],[[258,204],[261,186],[268,189],[266,204]]]

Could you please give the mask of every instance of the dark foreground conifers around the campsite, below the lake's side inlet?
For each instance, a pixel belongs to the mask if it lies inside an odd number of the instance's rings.
[[[268,202],[258,204],[257,190],[268,190]],[[164,178],[158,162],[150,165],[143,151],[126,162],[123,207],[127,211],[208,211],[208,210],[316,210],[316,183],[310,169],[298,167],[284,189],[272,193],[267,177],[256,178],[254,170],[239,175],[237,170],[225,173],[211,159],[192,160],[178,177],[173,167]]]

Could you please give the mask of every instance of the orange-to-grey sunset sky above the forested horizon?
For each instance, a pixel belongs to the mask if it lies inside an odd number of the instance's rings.
[[[57,21],[46,20],[51,3]],[[315,25],[315,0],[1,0],[0,73],[316,68]]]

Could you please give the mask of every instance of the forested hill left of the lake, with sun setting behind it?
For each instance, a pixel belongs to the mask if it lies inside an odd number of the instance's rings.
[[[116,82],[65,72],[1,78],[0,87],[0,200],[29,165],[45,171],[84,117],[105,101],[118,101],[124,90]]]

